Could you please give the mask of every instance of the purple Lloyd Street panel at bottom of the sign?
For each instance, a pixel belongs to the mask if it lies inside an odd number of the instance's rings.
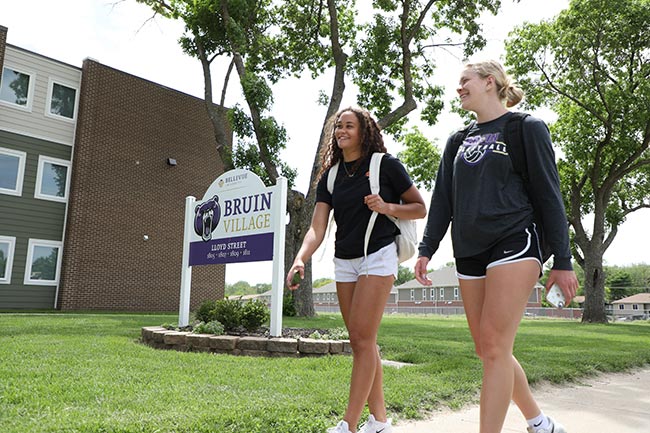
[[[273,260],[273,233],[190,242],[189,265]]]

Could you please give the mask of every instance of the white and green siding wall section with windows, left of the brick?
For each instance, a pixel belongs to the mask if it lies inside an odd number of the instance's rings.
[[[26,73],[30,86],[26,105],[0,100],[0,153],[17,152],[23,158],[19,191],[0,193],[0,238],[13,242],[9,251],[13,259],[3,266],[7,274],[0,281],[0,308],[51,309],[55,304],[58,279],[44,281],[38,277],[40,272],[28,270],[28,262],[38,257],[36,254],[30,256],[30,252],[35,251],[34,245],[30,251],[30,244],[54,242],[58,248],[57,259],[60,259],[67,197],[52,199],[39,194],[37,181],[39,175],[47,171],[45,162],[56,161],[69,166],[75,120],[53,115],[46,107],[53,83],[76,89],[78,94],[81,70],[8,45],[7,32],[6,27],[0,26],[0,72],[6,67]],[[68,186],[65,182],[65,187]],[[60,260],[54,263],[55,274],[60,276]]]

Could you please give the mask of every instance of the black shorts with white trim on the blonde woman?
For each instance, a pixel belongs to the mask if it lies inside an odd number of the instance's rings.
[[[487,270],[494,266],[536,260],[542,270],[542,253],[535,223],[519,233],[502,239],[492,248],[472,257],[456,259],[456,275],[460,279],[485,278]]]

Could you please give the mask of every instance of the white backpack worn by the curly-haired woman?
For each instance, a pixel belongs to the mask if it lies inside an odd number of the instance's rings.
[[[384,154],[381,152],[375,152],[372,154],[370,159],[370,193],[379,194],[379,169],[381,167],[381,159],[384,157]],[[340,162],[340,161],[339,161]],[[334,191],[334,181],[336,180],[336,173],[339,169],[339,162],[334,164],[329,172],[327,173],[327,190],[330,194]],[[364,257],[368,256],[368,243],[370,242],[370,233],[375,226],[375,220],[377,219],[377,212],[373,212],[370,215],[370,221],[368,221],[368,227],[366,227],[366,236],[363,243],[363,255]],[[386,215],[400,231],[400,234],[395,237],[395,243],[397,244],[397,261],[402,263],[415,254],[417,251],[418,236],[416,231],[415,220],[407,220],[395,218],[392,215]]]

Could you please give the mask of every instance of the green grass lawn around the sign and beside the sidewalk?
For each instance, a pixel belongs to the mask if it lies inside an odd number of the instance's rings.
[[[0,314],[0,432],[322,433],[345,411],[351,358],[249,358],[154,350],[143,326],[175,315]],[[339,315],[285,327],[343,326]],[[386,316],[390,415],[476,401],[481,369],[462,316]],[[650,324],[526,319],[516,355],[531,382],[650,364]]]

